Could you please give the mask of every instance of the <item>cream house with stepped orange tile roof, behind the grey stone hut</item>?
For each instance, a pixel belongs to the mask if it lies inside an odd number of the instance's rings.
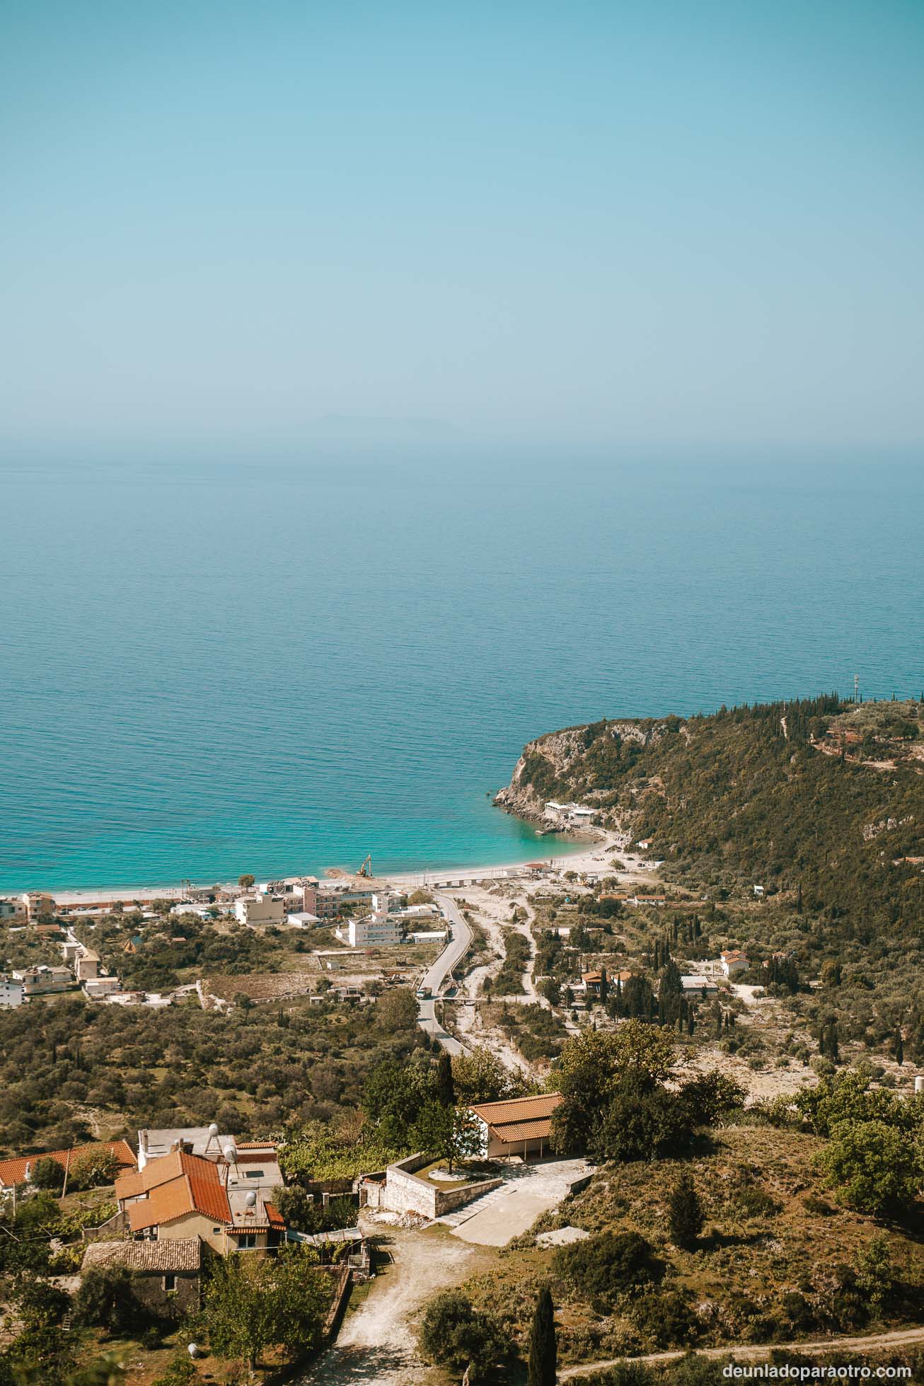
[[[272,1189],[248,1181],[245,1166],[180,1146],[116,1179],[119,1211],[137,1238],[198,1238],[219,1256],[266,1252],[284,1243],[285,1221],[270,1202]]]

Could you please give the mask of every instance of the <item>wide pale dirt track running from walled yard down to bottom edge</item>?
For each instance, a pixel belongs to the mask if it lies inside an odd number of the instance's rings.
[[[296,1386],[416,1386],[424,1365],[411,1324],[438,1290],[459,1285],[493,1264],[485,1247],[468,1246],[445,1228],[406,1231],[378,1227],[391,1256],[359,1308],[346,1315],[337,1342]]]

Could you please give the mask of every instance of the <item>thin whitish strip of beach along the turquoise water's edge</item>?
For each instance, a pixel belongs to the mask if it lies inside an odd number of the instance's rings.
[[[592,836],[593,834],[593,836]],[[375,881],[382,884],[403,887],[403,888],[417,888],[420,886],[446,886],[452,884],[472,884],[477,880],[503,880],[508,876],[515,876],[522,872],[526,861],[549,861],[549,862],[567,862],[567,869],[569,870],[600,870],[601,866],[610,861],[614,854],[625,857],[625,852],[616,839],[615,833],[604,832],[603,829],[587,829],[582,833],[580,839],[575,839],[574,851],[554,852],[551,857],[544,857],[540,852],[524,861],[504,862],[501,865],[493,863],[490,866],[428,866],[425,870],[413,872],[391,872],[385,875],[375,875],[373,877]],[[312,872],[303,872],[302,876],[313,875]],[[298,880],[299,876],[285,876],[278,877],[280,880]],[[349,873],[341,877],[344,880],[355,879]],[[220,884],[223,887],[237,887],[237,881],[206,881],[195,883],[198,888],[202,884]],[[40,888],[40,887],[35,887]],[[186,887],[179,886],[118,886],[118,887],[101,887],[98,890],[83,888],[83,890],[53,890],[50,891],[58,905],[72,908],[75,905],[103,905],[108,901],[121,900],[123,904],[130,904],[133,901],[145,902],[151,900],[183,900],[186,894]]]

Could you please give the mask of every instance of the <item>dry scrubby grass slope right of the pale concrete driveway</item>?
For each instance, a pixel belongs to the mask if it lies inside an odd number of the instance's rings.
[[[821,1189],[812,1156],[821,1142],[810,1135],[758,1127],[719,1131],[712,1149],[688,1161],[661,1160],[610,1166],[590,1186],[546,1216],[536,1229],[580,1227],[589,1232],[641,1232],[668,1263],[665,1285],[683,1290],[698,1307],[697,1346],[773,1342],[837,1328],[830,1307],[837,1303],[837,1267],[851,1263],[881,1228],[867,1217],[833,1204]],[[666,1232],[666,1204],[680,1168],[690,1168],[707,1211],[702,1247],[682,1252]],[[756,1196],[755,1196],[756,1191]],[[779,1209],[761,1211],[766,1193]],[[808,1199],[808,1206],[806,1206]],[[819,1199],[830,1213],[819,1211]],[[920,1303],[924,1257],[914,1234],[889,1229],[894,1263],[900,1268],[907,1303]],[[501,1253],[499,1270],[470,1282],[472,1297],[499,1313],[511,1333],[525,1342],[536,1283],[551,1275],[550,1250],[533,1236]],[[640,1332],[630,1313],[594,1313],[580,1296],[553,1277],[560,1307],[560,1351],[564,1362],[641,1353],[665,1346]],[[794,1325],[783,1297],[803,1295],[815,1318]],[[907,1304],[896,1306],[874,1324],[907,1321]]]

